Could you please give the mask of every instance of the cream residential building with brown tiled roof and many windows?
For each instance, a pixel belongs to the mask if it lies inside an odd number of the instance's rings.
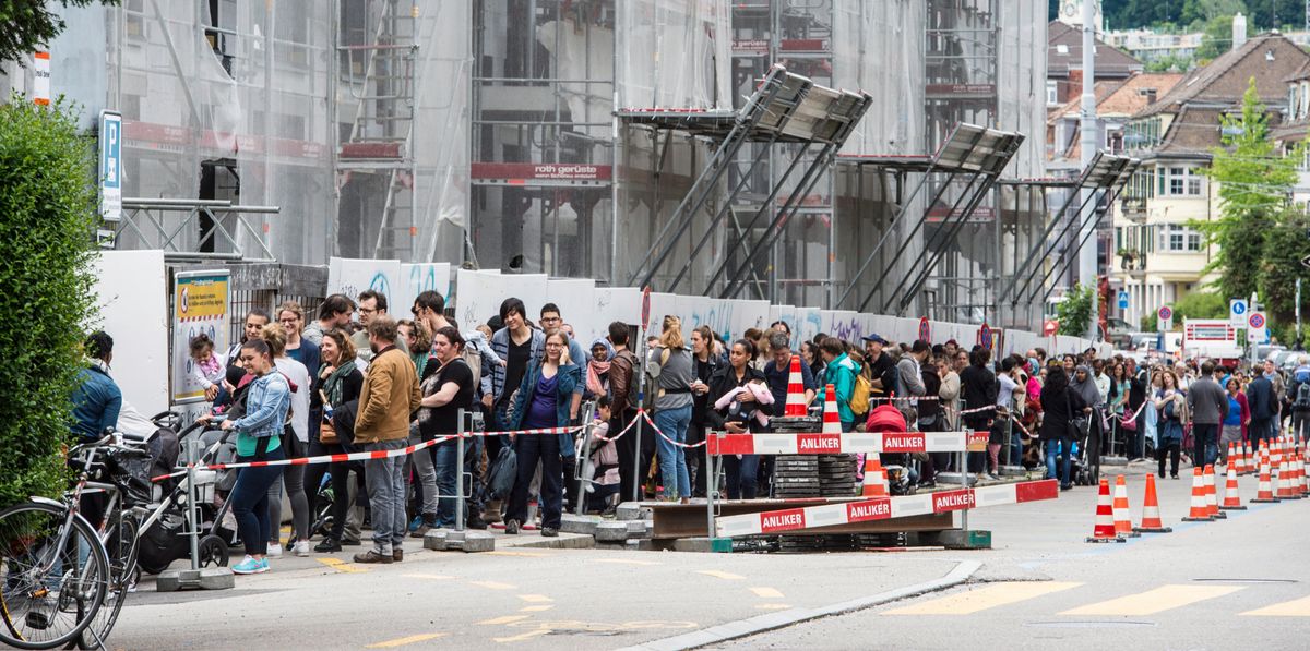
[[[1288,107],[1288,78],[1310,54],[1288,38],[1260,34],[1187,73],[1155,103],[1137,111],[1125,150],[1142,165],[1114,207],[1115,289],[1129,295],[1129,323],[1214,280],[1213,251],[1192,227],[1218,216],[1218,187],[1205,176],[1221,146],[1220,116],[1239,111],[1250,80],[1277,128]]]

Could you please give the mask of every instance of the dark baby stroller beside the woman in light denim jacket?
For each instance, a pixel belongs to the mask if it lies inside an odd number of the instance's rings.
[[[189,437],[195,435],[203,422],[195,422],[177,435],[178,443],[185,447]],[[207,441],[212,438],[212,441]],[[221,431],[210,430],[200,434],[199,441],[206,442],[204,454],[199,463],[212,463],[216,452],[224,446],[225,437]],[[156,463],[156,467],[160,463]],[[168,464],[162,472],[152,471],[152,475],[161,476],[174,472],[177,458]],[[234,475],[227,471],[228,475]],[[200,567],[228,565],[228,542],[217,536],[215,523],[221,522],[221,509],[215,506],[215,494],[221,481],[217,471],[195,472],[196,509],[199,512],[199,558]],[[234,478],[232,480],[234,481]],[[140,544],[138,552],[138,566],[148,574],[159,574],[166,570],[174,561],[187,558],[191,554],[190,532],[187,529],[187,484],[186,475],[161,480],[155,485],[155,499],[151,505],[151,515],[143,523]]]

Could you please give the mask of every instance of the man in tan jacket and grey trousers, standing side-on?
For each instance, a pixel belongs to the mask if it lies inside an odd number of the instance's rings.
[[[368,323],[373,361],[364,375],[355,416],[355,446],[362,451],[403,448],[409,443],[410,414],[418,410],[422,400],[414,362],[394,342],[396,320],[386,315],[373,316]],[[355,554],[356,563],[390,563],[403,558],[403,456],[364,461],[368,505],[373,511],[373,549]]]

